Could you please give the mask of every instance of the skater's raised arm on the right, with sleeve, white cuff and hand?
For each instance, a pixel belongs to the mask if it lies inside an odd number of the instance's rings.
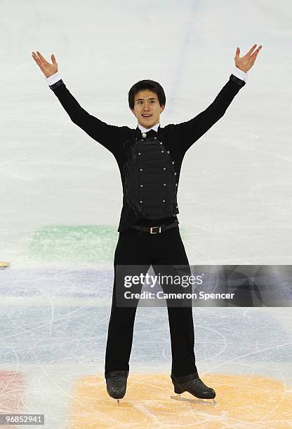
[[[246,84],[246,71],[253,67],[255,58],[262,48],[262,46],[259,46],[255,52],[253,52],[255,46],[256,45],[253,45],[244,57],[239,57],[240,49],[237,48],[234,57],[236,67],[234,67],[229,81],[223,86],[213,103],[211,103],[206,110],[190,119],[190,121],[174,125],[174,131],[179,133],[181,137],[180,145],[185,151],[187,151],[197,139],[204,135],[214,123],[222,118],[235,95],[237,95],[239,90]]]

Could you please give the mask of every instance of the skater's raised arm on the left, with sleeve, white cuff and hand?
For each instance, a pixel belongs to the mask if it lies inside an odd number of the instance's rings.
[[[121,141],[126,127],[108,125],[100,121],[100,119],[95,118],[95,116],[88,114],[88,112],[81,107],[62,81],[60,73],[58,72],[58,64],[55,60],[55,55],[51,55],[52,63],[48,62],[39,51],[36,51],[36,53],[33,52],[32,57],[46,76],[48,85],[51,90],[53,90],[56,97],[58,97],[58,100],[60,100],[62,107],[67,111],[72,122],[114,154],[115,151],[117,151],[117,144]]]

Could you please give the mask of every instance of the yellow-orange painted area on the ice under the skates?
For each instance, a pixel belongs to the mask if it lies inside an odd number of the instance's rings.
[[[165,374],[129,374],[125,397],[107,395],[102,376],[79,379],[69,412],[70,429],[96,428],[288,428],[292,389],[256,375],[201,375],[214,388],[217,404],[199,403],[190,393],[175,400]],[[255,426],[254,426],[255,425]]]

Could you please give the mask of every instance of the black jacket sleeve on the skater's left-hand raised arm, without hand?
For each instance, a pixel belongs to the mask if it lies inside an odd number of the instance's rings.
[[[62,79],[50,85],[50,88],[58,97],[73,123],[106,147],[112,154],[117,152],[117,144],[121,141],[127,127],[109,125],[89,114],[69,92]]]

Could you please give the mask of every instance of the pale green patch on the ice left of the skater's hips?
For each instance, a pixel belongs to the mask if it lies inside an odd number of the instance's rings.
[[[112,264],[119,233],[107,225],[47,225],[29,238],[29,257],[39,261]]]

